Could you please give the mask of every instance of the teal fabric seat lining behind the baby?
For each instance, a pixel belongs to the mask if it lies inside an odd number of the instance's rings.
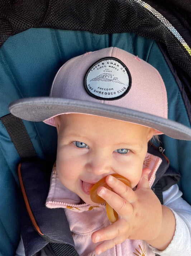
[[[48,96],[56,72],[68,59],[101,48],[116,46],[138,55],[161,73],[167,87],[169,118],[191,127],[185,99],[173,70],[167,64],[154,40],[134,33],[98,35],[86,31],[65,31],[30,28],[10,36],[0,49],[0,111],[9,113],[8,105],[29,96]],[[148,103],[149,104],[149,103]],[[43,122],[23,121],[39,158],[52,163],[56,157],[56,129]],[[20,240],[19,182],[17,168],[20,158],[10,137],[0,122],[0,255],[14,255]],[[47,139],[48,138],[48,139]],[[191,203],[191,142],[160,137],[170,165],[182,175],[179,186],[183,197]]]

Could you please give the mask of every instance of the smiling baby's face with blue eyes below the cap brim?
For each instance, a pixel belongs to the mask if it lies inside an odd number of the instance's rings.
[[[95,204],[90,188],[109,174],[129,179],[132,188],[138,184],[152,129],[86,114],[63,114],[55,123],[58,177],[85,203]]]

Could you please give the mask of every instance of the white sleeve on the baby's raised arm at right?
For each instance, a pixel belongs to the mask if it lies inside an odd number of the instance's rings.
[[[161,256],[191,255],[191,206],[181,196],[178,185],[173,185],[163,192],[164,205],[175,215],[176,230],[171,243],[164,251],[152,247],[152,251]]]

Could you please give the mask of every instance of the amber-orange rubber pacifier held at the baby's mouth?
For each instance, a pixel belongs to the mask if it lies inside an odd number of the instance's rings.
[[[111,174],[111,176],[113,176],[116,179],[122,181],[125,185],[127,185],[128,187],[131,188],[131,184],[130,184],[130,181],[128,179],[124,178],[123,176],[121,176],[119,174]],[[116,213],[116,211],[110,205],[108,205],[108,203],[103,198],[101,198],[97,194],[97,189],[100,186],[105,187],[105,188],[113,191],[113,189],[111,189],[108,186],[108,184],[106,184],[105,178],[106,177],[102,178],[96,184],[94,184],[94,186],[90,190],[90,198],[91,198],[91,201],[94,202],[94,203],[106,203],[106,210],[107,210],[107,214],[108,214],[108,219],[110,220],[111,223],[114,223],[116,220],[118,220],[118,214]]]

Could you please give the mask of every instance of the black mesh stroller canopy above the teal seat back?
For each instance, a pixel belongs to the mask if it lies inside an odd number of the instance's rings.
[[[160,16],[153,13],[148,5]],[[172,25],[171,30],[167,20]],[[31,27],[98,34],[134,32],[154,39],[169,55],[180,76],[183,76],[185,90],[191,95],[190,1],[0,0],[0,45],[9,36]],[[178,31],[178,36],[175,31]],[[182,38],[187,45],[181,42]]]

